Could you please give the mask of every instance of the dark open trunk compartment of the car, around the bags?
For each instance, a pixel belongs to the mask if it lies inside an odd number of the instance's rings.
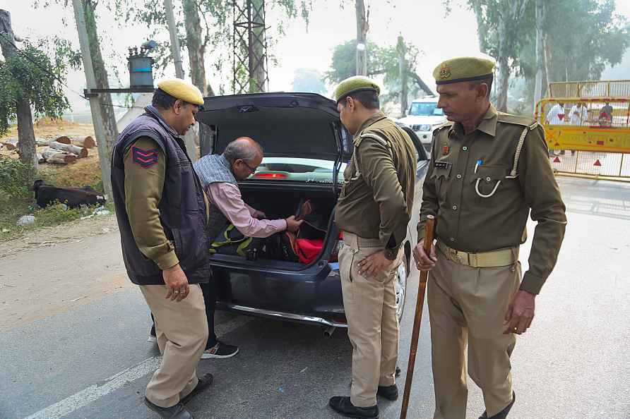
[[[302,232],[305,238],[323,238],[321,253],[316,259],[309,263],[286,262],[280,260],[270,260],[266,257],[258,257],[256,260],[247,260],[238,255],[215,254],[212,256],[214,262],[229,262],[238,265],[266,267],[285,270],[307,269],[314,265],[330,261],[331,253],[336,248],[338,240],[338,230],[334,226],[334,208],[337,202],[337,195],[329,185],[304,185],[297,183],[288,185],[275,181],[243,181],[239,184],[243,200],[267,215],[268,219],[285,219],[295,215],[301,202],[309,200],[313,208],[313,216],[308,221],[321,229],[317,232],[302,224]],[[298,234],[298,237],[301,235]],[[336,256],[336,255],[335,255]]]

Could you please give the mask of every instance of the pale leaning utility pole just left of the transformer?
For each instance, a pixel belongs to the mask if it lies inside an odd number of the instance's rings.
[[[92,53],[90,52],[90,41],[88,40],[88,30],[85,28],[85,14],[83,13],[83,4],[81,0],[72,0],[74,8],[74,19],[76,20],[76,30],[78,32],[79,43],[81,44],[81,57],[83,58],[83,68],[85,69],[85,82],[88,90],[96,88],[96,78],[94,68],[92,66]],[[96,135],[96,143],[98,146],[98,164],[103,182],[105,195],[112,199],[112,168],[109,166],[109,150],[105,137],[105,126],[100,114],[100,99],[98,95],[90,95],[90,111],[92,111],[92,121],[94,124],[94,133]]]

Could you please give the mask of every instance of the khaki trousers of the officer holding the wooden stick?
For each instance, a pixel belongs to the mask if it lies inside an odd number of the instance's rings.
[[[483,391],[487,415],[512,400],[510,356],[513,334],[503,334],[504,317],[521,284],[521,263],[473,268],[437,250],[429,274],[428,300],[435,389],[434,419],[465,419],[468,374]]]

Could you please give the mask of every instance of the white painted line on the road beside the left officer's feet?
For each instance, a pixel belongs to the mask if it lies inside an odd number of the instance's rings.
[[[232,330],[238,329],[253,320],[252,317],[238,316],[229,322],[217,324],[215,332],[218,335],[228,334]],[[47,408],[42,409],[25,419],[58,419],[69,415],[73,411],[88,406],[88,404],[97,401],[103,396],[117,389],[121,389],[126,384],[135,381],[138,378],[148,375],[160,367],[162,357],[154,356],[143,360],[135,367],[127,368],[116,375],[112,375],[100,384],[93,384],[90,387],[66,397],[66,399],[58,401]]]

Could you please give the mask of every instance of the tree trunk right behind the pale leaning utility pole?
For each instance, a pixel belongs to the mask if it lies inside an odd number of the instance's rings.
[[[92,63],[94,67],[94,76],[96,79],[96,87],[98,89],[109,89],[109,80],[107,71],[105,70],[105,61],[100,51],[100,41],[96,27],[95,8],[97,1],[81,0],[83,2],[83,11],[85,13],[85,27],[88,30],[88,40],[90,42],[90,52],[92,53]],[[109,93],[100,93],[99,101],[101,119],[103,128],[105,128],[105,141],[107,145],[107,156],[112,150],[114,141],[118,138],[118,127],[116,126],[116,115],[112,107],[112,95]]]

